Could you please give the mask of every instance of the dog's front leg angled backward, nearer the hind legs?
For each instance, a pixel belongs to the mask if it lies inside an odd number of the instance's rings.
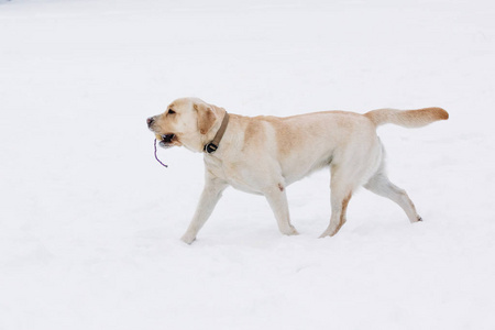
[[[275,215],[280,232],[286,235],[297,235],[297,230],[290,224],[285,187],[282,184],[278,184],[275,187],[266,189],[264,195],[266,200],[268,200],[273,213]]]

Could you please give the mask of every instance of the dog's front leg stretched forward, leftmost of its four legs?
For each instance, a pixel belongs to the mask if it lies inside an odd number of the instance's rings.
[[[205,182],[205,188],[202,189],[201,197],[196,208],[195,216],[189,223],[189,228],[183,235],[182,240],[190,244],[196,240],[196,235],[205,222],[210,217],[218,200],[222,196],[222,191],[227,188],[227,183],[223,180],[207,175]]]

